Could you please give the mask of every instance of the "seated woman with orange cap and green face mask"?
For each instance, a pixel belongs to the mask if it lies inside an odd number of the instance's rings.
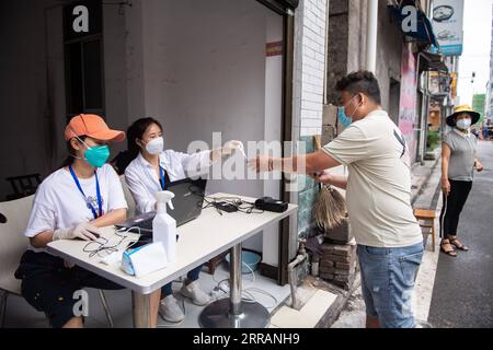
[[[95,241],[99,228],[126,219],[122,184],[106,164],[107,143],[123,141],[125,133],[111,130],[96,115],[79,115],[67,126],[65,139],[69,156],[39,185],[24,232],[30,248],[15,277],[22,280],[22,295],[47,315],[53,327],[78,328],[83,319],[73,311],[76,291],[122,287],[49,255],[45,248],[58,240]]]

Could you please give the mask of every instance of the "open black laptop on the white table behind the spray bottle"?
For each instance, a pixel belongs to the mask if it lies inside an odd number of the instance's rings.
[[[173,207],[169,207],[167,212],[170,217],[176,220],[176,226],[181,226],[192,220],[197,219],[202,213],[204,205],[205,189],[207,179],[191,179],[185,178],[171,183],[167,186],[167,190],[174,194]],[[151,211],[127,221],[116,224],[117,229],[129,230],[129,232],[139,233],[142,236],[152,236],[152,220],[154,220],[156,211]]]

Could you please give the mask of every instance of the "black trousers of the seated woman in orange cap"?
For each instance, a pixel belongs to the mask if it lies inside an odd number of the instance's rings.
[[[54,328],[61,328],[73,318],[74,292],[83,288],[123,289],[78,266],[69,269],[64,260],[47,253],[26,252],[15,278],[22,280],[22,296],[34,308],[44,312]]]

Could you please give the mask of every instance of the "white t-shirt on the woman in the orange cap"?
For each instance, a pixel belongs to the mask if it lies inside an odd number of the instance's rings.
[[[117,209],[128,209],[118,175],[108,164],[98,170],[103,214]],[[87,198],[99,212],[95,176],[79,178]],[[94,214],[80,192],[68,170],[61,168],[49,175],[36,191],[25,236],[34,237],[42,232],[69,229],[81,222],[94,220]]]

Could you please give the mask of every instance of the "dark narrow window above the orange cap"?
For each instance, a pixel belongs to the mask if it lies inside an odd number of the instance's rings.
[[[77,33],[73,9],[88,9],[89,32]],[[80,1],[64,8],[67,117],[104,115],[103,35],[101,1]]]

